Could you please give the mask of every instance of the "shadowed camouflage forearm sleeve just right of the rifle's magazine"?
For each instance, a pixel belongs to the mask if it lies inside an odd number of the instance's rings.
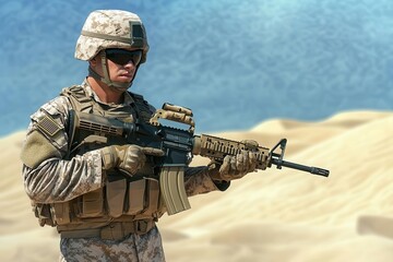
[[[188,167],[184,171],[184,187],[188,196],[209,193],[211,191],[225,191],[228,189],[229,181],[214,181],[209,176],[206,166]]]

